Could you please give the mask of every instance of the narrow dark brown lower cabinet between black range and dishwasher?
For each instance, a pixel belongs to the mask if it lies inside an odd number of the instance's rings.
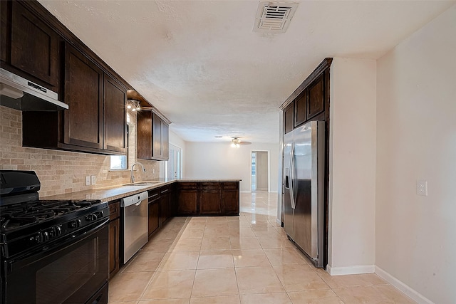
[[[109,203],[109,278],[112,278],[120,268],[120,201]]]

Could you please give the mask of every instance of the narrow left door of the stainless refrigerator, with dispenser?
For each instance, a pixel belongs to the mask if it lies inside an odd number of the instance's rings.
[[[284,214],[284,229],[286,234],[291,239],[294,239],[294,224],[293,224],[293,214],[294,214],[294,201],[292,201],[292,185],[291,185],[291,150],[293,149],[293,132],[289,132],[284,135],[284,195],[282,197],[282,211]]]

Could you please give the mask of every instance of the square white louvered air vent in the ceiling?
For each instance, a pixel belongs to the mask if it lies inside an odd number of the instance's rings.
[[[294,2],[260,1],[254,31],[285,33],[298,7]]]

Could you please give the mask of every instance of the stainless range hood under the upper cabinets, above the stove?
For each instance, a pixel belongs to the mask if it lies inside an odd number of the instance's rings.
[[[0,105],[21,111],[67,110],[56,92],[0,68]]]

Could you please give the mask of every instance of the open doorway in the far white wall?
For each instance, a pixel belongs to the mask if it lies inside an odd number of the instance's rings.
[[[252,192],[269,192],[269,152],[252,151],[251,160]]]

